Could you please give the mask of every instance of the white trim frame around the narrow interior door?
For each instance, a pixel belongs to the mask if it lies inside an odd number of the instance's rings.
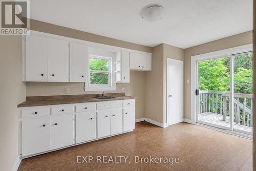
[[[166,58],[166,123],[167,126],[171,125],[170,123],[168,123],[168,118],[169,118],[169,106],[168,106],[168,102],[169,102],[169,83],[168,83],[168,62],[171,61],[179,61],[181,62],[181,122],[183,122],[183,60],[178,60],[178,59],[173,59],[173,58]]]

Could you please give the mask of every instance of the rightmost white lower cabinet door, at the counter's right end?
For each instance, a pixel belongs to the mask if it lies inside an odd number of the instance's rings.
[[[135,107],[123,108],[123,131],[135,129]]]

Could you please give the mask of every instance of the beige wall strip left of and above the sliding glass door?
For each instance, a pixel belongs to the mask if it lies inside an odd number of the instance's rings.
[[[237,34],[234,36],[222,38],[219,40],[211,41],[206,44],[198,45],[195,47],[185,49],[184,57],[184,118],[190,119],[191,101],[190,101],[190,82],[187,84],[186,80],[190,80],[190,62],[191,56],[203,53],[228,49],[232,47],[247,45],[252,43],[252,31]]]

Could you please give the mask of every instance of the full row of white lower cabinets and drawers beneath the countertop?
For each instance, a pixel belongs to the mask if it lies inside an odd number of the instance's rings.
[[[135,129],[135,99],[27,107],[19,113],[23,157]]]

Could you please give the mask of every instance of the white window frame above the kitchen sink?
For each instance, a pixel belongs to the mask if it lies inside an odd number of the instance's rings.
[[[97,51],[97,50],[96,50]],[[113,70],[113,57],[106,53],[102,53],[102,51],[99,50],[97,53],[95,50],[92,50],[92,53],[90,54],[90,51],[88,51],[88,80],[86,82],[85,91],[113,91],[116,90],[116,83],[114,82],[114,70]],[[90,59],[106,59],[109,60],[109,71],[97,71],[97,70],[91,70],[90,69]],[[109,83],[108,84],[91,84],[91,73],[108,73],[109,74]]]

